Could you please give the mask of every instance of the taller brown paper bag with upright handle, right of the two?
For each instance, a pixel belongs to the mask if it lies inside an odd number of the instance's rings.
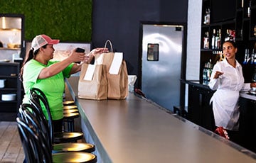
[[[105,66],[107,72],[107,99],[126,99],[128,96],[127,64],[123,60],[118,74],[110,74],[109,70],[114,58],[114,52],[110,40],[106,41],[105,47],[107,43],[110,43],[110,52],[96,55],[95,64],[97,64],[97,59],[101,57],[101,64]]]

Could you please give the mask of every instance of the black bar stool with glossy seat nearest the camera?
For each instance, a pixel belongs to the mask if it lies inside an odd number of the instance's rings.
[[[88,152],[53,153],[42,132],[33,124],[21,118],[16,118],[16,122],[27,162],[97,162],[96,155]]]

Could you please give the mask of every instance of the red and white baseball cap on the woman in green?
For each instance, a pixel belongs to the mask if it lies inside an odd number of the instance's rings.
[[[35,52],[40,47],[46,44],[54,45],[58,44],[60,40],[53,40],[48,35],[36,35],[35,38],[33,38],[31,47],[33,48],[33,51]]]

